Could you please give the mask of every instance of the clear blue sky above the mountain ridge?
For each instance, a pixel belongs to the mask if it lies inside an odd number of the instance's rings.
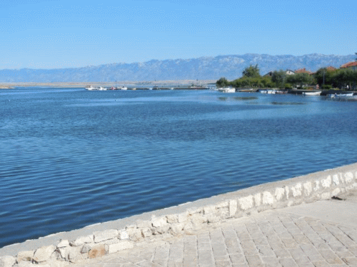
[[[0,69],[357,52],[356,0],[0,0]]]

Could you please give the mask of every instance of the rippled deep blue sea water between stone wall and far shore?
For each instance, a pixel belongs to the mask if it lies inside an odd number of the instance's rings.
[[[0,112],[0,247],[357,162],[357,103],[323,97],[23,88]]]

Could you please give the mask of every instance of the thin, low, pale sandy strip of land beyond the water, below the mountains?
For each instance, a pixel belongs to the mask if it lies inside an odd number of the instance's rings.
[[[0,89],[10,89],[10,88],[18,88],[18,87],[49,87],[49,88],[85,88],[89,85],[93,86],[121,86],[121,85],[129,85],[129,86],[142,86],[142,85],[208,85],[209,83],[216,83],[216,80],[144,80],[144,81],[131,81],[124,80],[119,82],[79,82],[79,83],[0,83]]]

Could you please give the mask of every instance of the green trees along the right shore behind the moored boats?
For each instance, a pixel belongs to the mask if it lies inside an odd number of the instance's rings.
[[[357,55],[357,53],[356,53]],[[357,61],[357,58],[356,58]],[[258,65],[249,66],[242,72],[242,77],[228,81],[226,78],[217,80],[217,87],[232,86],[235,88],[303,88],[305,85],[320,85],[320,88],[353,89],[357,85],[357,70],[351,68],[328,70],[320,68],[315,74],[286,74],[285,70],[275,70],[271,76],[261,76]],[[348,86],[347,86],[348,85]]]

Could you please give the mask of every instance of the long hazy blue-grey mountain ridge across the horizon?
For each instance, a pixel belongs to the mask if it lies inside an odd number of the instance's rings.
[[[271,70],[296,70],[333,66],[355,61],[356,55],[336,56],[309,54],[303,56],[271,56],[247,53],[241,56],[228,55],[174,60],[151,60],[144,63],[110,63],[83,68],[0,70],[0,82],[115,82],[123,80],[214,80],[226,77],[228,80],[241,77],[244,68],[256,65],[261,75]]]

